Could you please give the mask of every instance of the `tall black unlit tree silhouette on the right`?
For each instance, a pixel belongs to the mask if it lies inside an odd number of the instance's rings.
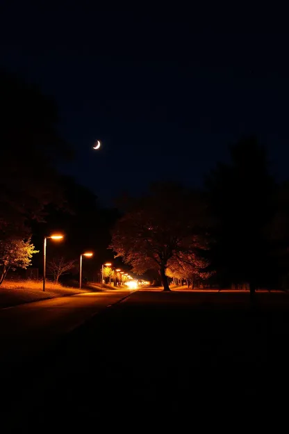
[[[268,227],[276,186],[265,148],[254,137],[240,140],[231,147],[231,163],[210,172],[206,187],[214,222],[211,262],[220,282],[248,282],[251,294],[257,286],[272,284]]]

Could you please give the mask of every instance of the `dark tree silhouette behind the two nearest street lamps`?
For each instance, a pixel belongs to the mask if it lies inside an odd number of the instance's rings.
[[[33,242],[42,246],[43,236],[51,232],[63,232],[63,243],[49,244],[49,256],[76,259],[85,250],[92,250],[92,259],[85,263],[85,272],[97,277],[101,264],[113,259],[108,255],[110,230],[119,214],[116,209],[103,208],[97,196],[85,186],[79,185],[72,177],[61,177],[59,185],[63,194],[63,206],[49,204],[44,208],[45,222],[33,223]],[[38,261],[38,264],[37,264]],[[42,259],[35,258],[35,266],[42,267]]]

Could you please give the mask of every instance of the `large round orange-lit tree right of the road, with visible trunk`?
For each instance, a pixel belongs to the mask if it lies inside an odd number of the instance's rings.
[[[204,232],[199,194],[175,184],[154,184],[147,195],[130,198],[125,205],[110,248],[131,264],[133,273],[157,270],[164,291],[170,291],[168,262],[181,252],[195,252]]]

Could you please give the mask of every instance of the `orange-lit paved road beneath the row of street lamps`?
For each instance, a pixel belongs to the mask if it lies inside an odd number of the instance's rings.
[[[114,290],[76,294],[0,310],[0,355],[23,357],[47,348],[105,307],[131,294]]]

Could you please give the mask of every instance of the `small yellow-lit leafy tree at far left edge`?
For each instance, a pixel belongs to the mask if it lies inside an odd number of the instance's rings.
[[[27,268],[31,258],[39,250],[35,250],[31,239],[9,239],[0,241],[0,284],[10,269]]]

